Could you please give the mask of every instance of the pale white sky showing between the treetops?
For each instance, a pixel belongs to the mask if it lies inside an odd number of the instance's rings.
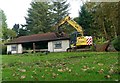
[[[2,9],[7,18],[8,28],[16,24],[25,24],[27,10],[30,8],[32,0],[0,0],[0,9]],[[68,0],[70,2],[70,17],[77,17],[82,5],[81,0]]]

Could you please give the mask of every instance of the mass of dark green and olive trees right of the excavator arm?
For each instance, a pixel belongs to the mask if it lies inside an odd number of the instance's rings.
[[[111,39],[119,34],[118,11],[117,2],[87,2],[81,7],[77,22],[96,38]]]

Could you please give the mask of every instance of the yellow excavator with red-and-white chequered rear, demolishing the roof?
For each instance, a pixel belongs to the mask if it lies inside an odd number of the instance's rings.
[[[61,35],[62,33],[61,31],[59,31],[59,28],[65,23],[68,23],[77,31],[72,34],[74,36],[70,39],[70,48],[68,48],[67,51],[73,51],[79,48],[89,47],[93,44],[92,36],[84,36],[82,27],[74,20],[72,20],[70,16],[66,16],[57,25],[55,25],[55,28],[57,28],[59,35]]]

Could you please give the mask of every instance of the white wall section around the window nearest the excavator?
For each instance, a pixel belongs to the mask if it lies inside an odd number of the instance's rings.
[[[57,42],[61,43],[61,48],[56,48],[55,44]],[[58,41],[50,41],[48,42],[48,51],[50,52],[63,52],[69,48],[69,40],[58,40]]]

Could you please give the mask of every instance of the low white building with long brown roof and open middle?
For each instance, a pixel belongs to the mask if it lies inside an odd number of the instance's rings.
[[[34,34],[29,36],[21,36],[13,41],[6,43],[7,54],[24,53],[24,52],[61,52],[69,48],[69,36],[62,36],[56,33]]]

